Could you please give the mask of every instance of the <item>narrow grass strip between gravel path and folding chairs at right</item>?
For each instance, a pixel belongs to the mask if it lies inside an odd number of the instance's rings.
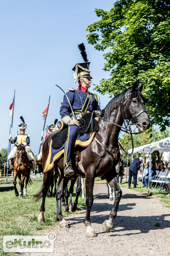
[[[128,182],[123,181],[120,187],[128,188]],[[145,188],[145,187],[142,188],[142,183],[140,181],[137,182],[136,188],[133,188],[133,185],[132,185],[130,189],[134,189],[135,191],[142,192],[142,193],[148,193],[148,188]],[[164,190],[163,192],[159,192],[156,189],[152,189],[152,193],[151,193],[151,188],[149,189],[149,195],[153,195],[160,198],[160,201],[166,203],[165,206],[170,208],[170,196],[166,196],[168,193],[169,192],[166,190]]]

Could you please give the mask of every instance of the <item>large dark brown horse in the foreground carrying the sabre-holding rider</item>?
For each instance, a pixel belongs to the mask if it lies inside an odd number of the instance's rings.
[[[78,148],[78,155],[81,158],[81,164],[85,170],[85,187],[86,187],[86,217],[84,224],[87,227],[86,236],[97,236],[94,229],[91,227],[90,210],[93,205],[93,187],[96,177],[104,176],[109,185],[115,191],[115,201],[113,209],[110,212],[109,220],[103,222],[103,230],[110,232],[113,227],[113,221],[117,216],[119,202],[121,200],[122,191],[118,184],[117,173],[115,166],[120,159],[120,152],[118,146],[118,136],[121,127],[126,120],[130,120],[133,124],[138,126],[139,132],[144,132],[149,129],[150,121],[146,114],[144,101],[142,98],[143,84],[136,89],[137,81],[129,90],[116,95],[106,106],[99,118],[99,132],[96,133],[94,142],[92,142],[84,150]],[[122,109],[122,110],[121,110]],[[121,113],[122,112],[122,113]],[[113,124],[116,123],[117,125]],[[57,131],[56,131],[57,132]],[[52,134],[50,134],[42,148],[42,166],[44,167],[45,161],[49,152],[49,144]],[[104,148],[104,147],[105,148]],[[64,178],[63,157],[55,161],[55,165],[61,172],[60,183],[56,191],[57,202],[57,220],[60,221],[61,228],[68,228],[66,220],[64,220],[61,212],[61,198],[64,188],[66,187],[69,178]],[[75,168],[75,160],[72,158],[72,166]],[[54,167],[55,168],[55,167]],[[78,173],[80,173],[77,170]],[[43,185],[39,193],[35,195],[37,200],[42,197],[42,205],[40,208],[39,221],[44,221],[44,204],[45,196],[48,191],[48,184],[50,183],[53,170],[44,173]],[[82,175],[82,174],[81,174]],[[42,195],[41,195],[42,193]]]

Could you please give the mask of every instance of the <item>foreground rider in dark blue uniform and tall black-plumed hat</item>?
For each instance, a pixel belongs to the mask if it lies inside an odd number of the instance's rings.
[[[83,48],[84,51],[82,51]],[[92,77],[89,70],[90,62],[87,60],[87,55],[83,43],[79,45],[79,49],[85,63],[76,64],[72,69],[75,71],[73,74],[75,80],[74,82],[76,83],[76,79],[78,79],[79,85],[77,89],[69,88],[69,91],[66,93],[68,99],[64,95],[63,103],[60,108],[60,115],[62,118],[61,121],[68,125],[68,137],[64,144],[64,174],[66,176],[71,176],[74,174],[74,171],[71,167],[71,154],[73,152],[75,140],[77,138],[77,130],[79,125],[78,120],[85,113],[91,113],[95,111],[96,114],[99,114],[101,111],[98,105],[97,95],[88,91],[88,88],[92,83]],[[73,117],[69,102],[72,106],[76,119]]]

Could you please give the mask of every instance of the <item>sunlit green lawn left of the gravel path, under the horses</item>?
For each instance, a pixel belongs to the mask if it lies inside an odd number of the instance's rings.
[[[12,179],[9,179],[12,180]],[[23,199],[15,197],[14,190],[0,192],[0,255],[7,255],[3,252],[3,236],[5,235],[36,235],[39,230],[49,229],[56,225],[56,199],[55,196],[45,200],[45,222],[38,222],[37,217],[40,212],[42,200],[35,203],[33,196],[38,192],[42,185],[42,178],[32,178],[33,184],[27,186],[28,196]],[[2,184],[1,184],[2,185]],[[11,183],[13,185],[13,183]],[[17,181],[17,189],[19,183]],[[72,202],[75,199],[75,187]],[[85,205],[85,199],[79,197],[77,210]],[[64,217],[65,207],[62,207]],[[8,254],[9,255],[9,254]]]

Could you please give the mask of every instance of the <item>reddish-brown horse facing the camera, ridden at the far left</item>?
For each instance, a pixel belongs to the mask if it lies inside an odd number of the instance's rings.
[[[27,157],[27,154],[25,152],[25,146],[23,144],[17,145],[15,144],[15,146],[17,147],[17,156],[15,158],[14,161],[14,189],[15,189],[15,196],[20,196],[20,198],[23,198],[23,188],[24,188],[24,181],[26,178],[26,182],[25,182],[25,189],[24,189],[24,196],[27,195],[27,184],[28,182],[30,184],[32,184],[32,181],[30,179],[30,169],[29,169],[29,160]],[[21,180],[21,174],[23,176],[22,180]],[[20,195],[18,194],[18,190],[16,188],[16,184],[17,184],[17,176],[19,179],[19,184],[20,184]]]

